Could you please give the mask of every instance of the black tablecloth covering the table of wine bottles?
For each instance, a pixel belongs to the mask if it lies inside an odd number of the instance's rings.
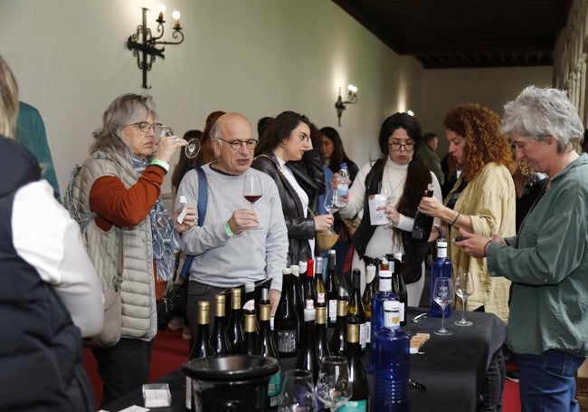
[[[419,313],[420,308],[409,308],[409,319]],[[410,402],[412,412],[431,410],[451,410],[472,412],[476,410],[479,394],[484,385],[488,363],[494,352],[499,350],[506,337],[507,325],[491,313],[466,312],[473,326],[454,325],[461,312],[452,312],[445,320],[445,326],[453,334],[438,336],[433,332],[441,328],[441,319],[427,317],[403,327],[409,333],[430,333],[431,339],[422,347],[422,354],[411,355],[411,378],[422,383],[427,390],[411,388]],[[329,330],[332,332],[332,330]],[[296,359],[281,359],[282,371],[293,369]],[[368,351],[362,356],[367,367]],[[367,373],[374,401],[374,375]],[[172,393],[171,407],[157,407],[157,412],[183,412],[185,405],[185,375],[181,369],[159,378],[156,382],[167,382]],[[131,405],[143,406],[141,388],[130,392],[123,398],[105,406],[109,412],[117,412]]]

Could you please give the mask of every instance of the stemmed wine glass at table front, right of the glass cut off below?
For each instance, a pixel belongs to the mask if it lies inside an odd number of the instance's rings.
[[[325,407],[330,408],[333,412],[346,404],[353,394],[346,358],[327,356],[323,359],[318,373],[316,392]]]

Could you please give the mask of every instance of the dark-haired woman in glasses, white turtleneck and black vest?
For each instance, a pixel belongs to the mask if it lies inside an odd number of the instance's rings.
[[[441,199],[441,187],[437,177],[422,163],[419,145],[422,143],[421,125],[407,113],[395,113],[382,124],[378,138],[383,158],[367,163],[359,170],[356,181],[349,189],[347,206],[339,209],[342,217],[361,216],[361,224],[353,236],[356,246],[353,267],[365,267],[361,259],[380,258],[384,254],[406,252],[412,244],[414,214],[427,185],[435,185],[434,196]],[[369,197],[392,193],[393,201],[384,212],[392,228],[372,223],[369,213]],[[412,249],[412,247],[411,247]],[[409,256],[413,261],[423,256]],[[424,273],[424,263],[422,273]],[[408,304],[418,306],[421,301],[424,276],[406,285]]]

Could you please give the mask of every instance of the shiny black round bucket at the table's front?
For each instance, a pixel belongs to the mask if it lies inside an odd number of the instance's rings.
[[[277,359],[226,355],[192,359],[182,367],[192,378],[196,412],[264,411]]]

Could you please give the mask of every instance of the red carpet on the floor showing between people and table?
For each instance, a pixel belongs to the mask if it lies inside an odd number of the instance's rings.
[[[162,376],[181,367],[188,359],[188,341],[182,339],[182,331],[159,332],[153,342],[153,356],[149,380]],[[96,395],[96,404],[102,400],[102,381],[98,376],[96,360],[90,350],[84,350],[84,367],[90,376]],[[507,368],[511,368],[507,365]],[[503,412],[520,412],[518,384],[507,380],[503,398]]]

